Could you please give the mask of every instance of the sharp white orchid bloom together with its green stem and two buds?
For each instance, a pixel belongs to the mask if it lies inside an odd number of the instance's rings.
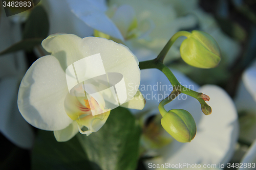
[[[172,93],[159,104],[159,111],[163,116],[161,124],[176,140],[190,142],[196,135],[193,116],[186,110],[180,109],[166,112],[164,105],[174,100],[180,93],[185,93],[200,102],[204,114],[210,114],[211,108],[205,103],[209,101],[207,95],[182,86],[172,71],[162,64],[169,48],[179,36],[187,37],[180,48],[185,62],[202,68],[211,68],[219,64],[219,46],[210,35],[200,31],[192,33],[181,31],[169,40],[155,60],[141,62],[140,68],[160,69],[175,87]],[[108,101],[113,101],[111,95],[113,92],[117,92],[117,101],[121,106],[133,109],[144,107],[144,99],[136,98],[140,96],[138,60],[124,45],[104,38],[81,39],[72,34],[55,34],[42,41],[42,46],[51,55],[39,58],[26,72],[19,87],[18,108],[31,125],[54,131],[57,141],[67,141],[78,131],[87,135],[97,132],[108,119],[111,109],[115,108],[106,107],[103,99],[103,96],[107,96]],[[97,58],[100,56],[102,63]],[[88,63],[90,60],[94,63]],[[77,66],[80,68],[77,69]],[[103,87],[101,83],[103,80],[99,80],[96,86],[94,83],[91,84],[91,81],[89,84],[87,82],[91,78],[102,77],[104,73],[109,75],[111,72],[122,75],[121,84],[126,89],[128,84],[129,87],[132,85],[134,87],[132,91],[121,88],[120,82],[113,91],[108,92],[103,89],[108,85],[113,86],[110,82]],[[109,75],[106,79],[112,78]],[[97,91],[101,92],[96,93]],[[120,95],[119,92],[122,94]],[[83,131],[83,127],[87,130]]]

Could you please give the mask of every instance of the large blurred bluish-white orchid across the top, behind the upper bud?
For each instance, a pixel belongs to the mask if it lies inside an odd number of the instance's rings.
[[[221,32],[214,17],[199,8],[198,1],[110,0],[109,7],[102,0],[67,2],[78,18],[104,33],[97,36],[124,43],[139,60],[154,59],[176,32],[198,26],[216,39],[229,64],[240,51],[238,42]],[[177,41],[170,48],[166,62],[180,56],[180,43]]]

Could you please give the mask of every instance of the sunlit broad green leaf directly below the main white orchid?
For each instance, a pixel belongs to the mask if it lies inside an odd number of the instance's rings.
[[[78,134],[89,160],[102,170],[134,170],[139,158],[140,127],[129,110],[111,110],[105,125],[90,136]]]

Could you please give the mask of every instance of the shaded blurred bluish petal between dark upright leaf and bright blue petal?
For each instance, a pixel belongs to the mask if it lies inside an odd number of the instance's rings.
[[[93,29],[80,20],[63,0],[41,0],[41,5],[47,11],[50,30],[49,34],[67,33],[79,37],[93,35]]]

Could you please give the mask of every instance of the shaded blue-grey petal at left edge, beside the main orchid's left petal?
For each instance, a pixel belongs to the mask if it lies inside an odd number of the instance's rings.
[[[2,79],[0,82],[0,131],[14,144],[30,149],[34,134],[30,125],[20,115],[17,108],[18,80]]]

